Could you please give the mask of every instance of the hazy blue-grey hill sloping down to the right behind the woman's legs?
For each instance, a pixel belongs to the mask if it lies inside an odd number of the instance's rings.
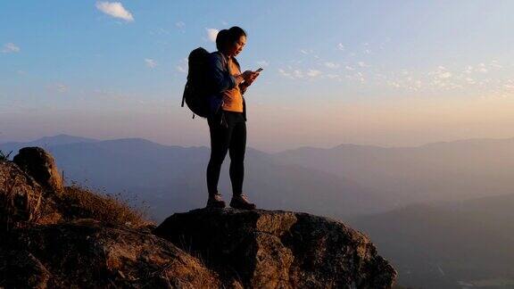
[[[141,138],[50,145],[64,178],[100,191],[145,201],[155,219],[173,211],[203,207],[210,149],[159,145]],[[0,150],[3,150],[0,145]],[[297,165],[280,164],[252,148],[245,156],[245,193],[261,208],[348,216],[394,208],[394,198],[349,178]],[[229,157],[220,192],[229,198]]]

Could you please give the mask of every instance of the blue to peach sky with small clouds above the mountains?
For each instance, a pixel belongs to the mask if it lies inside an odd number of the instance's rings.
[[[213,51],[216,30],[234,25],[248,32],[243,69],[264,68],[246,96],[249,145],[513,136],[504,111],[514,92],[513,8],[511,1],[4,1],[0,141],[68,133],[208,145],[206,124],[178,107],[187,54]]]

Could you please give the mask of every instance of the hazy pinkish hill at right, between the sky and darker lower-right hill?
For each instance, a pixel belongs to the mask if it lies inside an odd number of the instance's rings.
[[[303,147],[273,156],[284,163],[330,172],[385,194],[393,193],[402,204],[514,192],[514,138],[418,147]]]

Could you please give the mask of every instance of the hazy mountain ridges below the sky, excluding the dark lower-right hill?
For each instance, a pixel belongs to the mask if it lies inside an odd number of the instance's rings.
[[[514,191],[510,181],[514,178],[513,140],[471,139],[398,148],[344,144],[282,153],[248,147],[245,188],[256,201],[272,208],[278,204],[290,205],[290,210],[318,208],[313,212],[345,212],[345,216],[392,210],[412,202],[508,194]],[[174,203],[171,208],[180,211],[204,202],[204,168],[209,158],[206,146],[160,145],[144,138],[102,141],[59,135],[2,144],[0,149],[17,152],[21,146],[41,142],[54,144],[45,147],[54,153],[69,180],[127,192],[134,198],[153,194],[159,198],[154,202],[161,206]],[[220,190],[227,196],[228,163],[227,157],[220,178]],[[264,187],[273,195],[259,194]],[[173,193],[178,191],[191,193]],[[178,204],[184,206],[175,207]]]

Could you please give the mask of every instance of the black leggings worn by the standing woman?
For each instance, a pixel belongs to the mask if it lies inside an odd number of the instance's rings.
[[[211,133],[211,160],[207,166],[209,194],[218,193],[218,181],[223,160],[230,155],[230,181],[232,194],[243,194],[245,178],[246,123],[243,112],[219,111],[207,119]]]

